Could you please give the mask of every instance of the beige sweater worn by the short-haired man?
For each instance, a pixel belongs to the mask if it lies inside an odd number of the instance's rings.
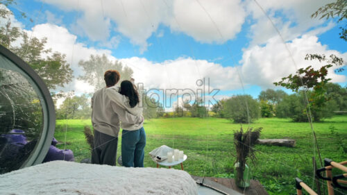
[[[111,101],[106,95],[106,88],[97,90],[92,96],[92,125],[94,130],[117,137],[119,133],[119,121],[124,124],[143,124],[142,117],[131,115],[117,103]],[[124,129],[132,126],[124,126]],[[123,125],[122,125],[123,128]]]

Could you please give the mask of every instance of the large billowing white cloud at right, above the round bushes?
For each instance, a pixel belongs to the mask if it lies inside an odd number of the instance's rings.
[[[328,46],[318,42],[318,37],[313,35],[303,35],[292,42],[287,42],[287,47],[279,37],[271,38],[265,46],[253,46],[244,51],[242,56],[242,74],[244,82],[248,85],[258,85],[261,87],[274,87],[273,82],[279,81],[280,78],[295,73],[296,69],[311,65],[314,69],[319,69],[324,63],[317,61],[305,60],[307,53],[319,53],[330,56],[335,54],[347,59],[347,53],[339,53],[335,50],[328,49]],[[346,82],[346,76],[337,75],[330,69],[328,78],[332,82]]]

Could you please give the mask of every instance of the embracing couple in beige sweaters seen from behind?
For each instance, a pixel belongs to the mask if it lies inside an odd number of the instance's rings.
[[[92,125],[94,149],[92,164],[116,165],[119,128],[121,133],[121,160],[124,167],[144,167],[144,117],[139,107],[140,96],[129,80],[121,82],[116,70],[105,71],[106,87],[92,96]]]

